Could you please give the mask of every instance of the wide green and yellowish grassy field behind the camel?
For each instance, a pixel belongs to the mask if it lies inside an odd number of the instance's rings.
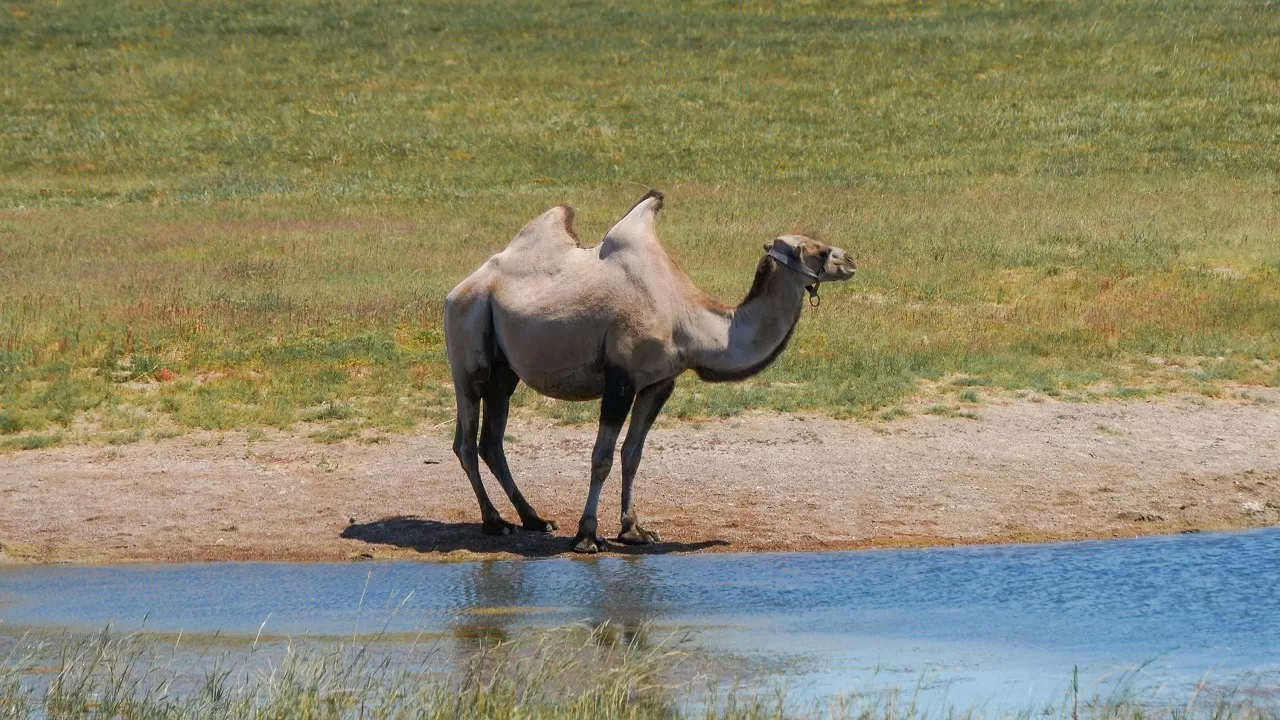
[[[1276,386],[1277,38],[1261,0],[13,1],[0,447],[444,423],[444,293],[648,187],[726,300],[790,229],[861,268],[673,416]]]

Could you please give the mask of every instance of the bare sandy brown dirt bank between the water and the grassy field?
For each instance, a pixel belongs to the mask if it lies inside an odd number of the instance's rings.
[[[636,480],[660,544],[782,551],[1121,537],[1280,523],[1280,392],[1010,400],[977,420],[750,415],[657,428]],[[0,456],[0,561],[461,560],[567,552],[594,428],[513,420],[556,536],[480,534],[445,429],[380,445],[195,434]],[[618,466],[602,500],[617,533]],[[515,512],[486,475],[490,495]]]

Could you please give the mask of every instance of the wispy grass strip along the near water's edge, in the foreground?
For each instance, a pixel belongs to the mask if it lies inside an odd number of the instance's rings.
[[[390,639],[390,642],[383,642]],[[279,641],[276,641],[278,643]],[[1188,701],[1147,697],[1142,669],[1106,696],[1078,675],[1061,702],[1027,710],[936,707],[911,693],[849,693],[788,702],[769,676],[726,666],[652,637],[648,628],[596,626],[477,635],[456,657],[430,639],[375,638],[282,647],[259,639],[120,635],[0,643],[0,717],[184,720],[197,717],[545,720],[1275,720],[1274,698],[1196,692]],[[183,644],[186,643],[186,644]],[[460,642],[460,644],[462,644]],[[5,647],[9,646],[9,647]],[[773,678],[781,680],[781,678]],[[1203,689],[1203,688],[1202,688]],[[763,692],[762,692],[763,691]],[[1087,691],[1085,691],[1087,692]]]

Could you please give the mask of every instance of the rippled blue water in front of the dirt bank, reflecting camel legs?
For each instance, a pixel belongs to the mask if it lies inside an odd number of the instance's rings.
[[[0,570],[10,626],[465,638],[580,620],[686,626],[714,651],[795,661],[787,685],[801,698],[919,685],[929,702],[1029,707],[1060,700],[1076,665],[1102,692],[1142,664],[1142,678],[1175,696],[1204,678],[1272,687],[1280,529],[827,553]]]

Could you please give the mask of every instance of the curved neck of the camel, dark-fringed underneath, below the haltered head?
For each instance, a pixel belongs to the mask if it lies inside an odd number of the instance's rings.
[[[796,273],[760,259],[746,299],[732,310],[707,309],[701,347],[691,352],[692,369],[704,380],[732,382],[768,368],[786,348],[804,306],[804,283]]]

